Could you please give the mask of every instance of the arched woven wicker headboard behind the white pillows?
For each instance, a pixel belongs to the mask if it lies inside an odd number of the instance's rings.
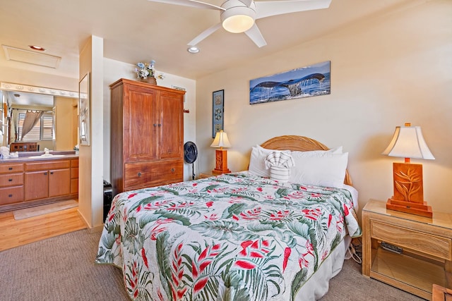
[[[266,149],[278,149],[278,150],[291,150],[299,152],[307,152],[313,150],[328,150],[321,142],[311,139],[309,137],[297,136],[297,135],[285,135],[273,137],[261,144],[261,147]],[[352,178],[348,171],[345,171],[344,184],[352,185]]]

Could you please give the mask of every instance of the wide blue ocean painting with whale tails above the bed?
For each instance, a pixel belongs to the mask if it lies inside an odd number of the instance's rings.
[[[249,104],[331,94],[331,61],[249,81]]]

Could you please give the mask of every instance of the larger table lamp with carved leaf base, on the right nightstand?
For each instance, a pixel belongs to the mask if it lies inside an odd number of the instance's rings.
[[[432,217],[432,207],[424,202],[422,164],[411,164],[410,158],[435,159],[425,143],[420,126],[396,127],[393,139],[382,153],[405,158],[405,163],[393,163],[394,195],[386,209]]]

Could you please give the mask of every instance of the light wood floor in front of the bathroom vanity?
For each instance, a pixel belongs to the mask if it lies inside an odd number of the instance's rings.
[[[0,251],[86,228],[77,210],[74,207],[18,221],[13,211],[0,213]]]

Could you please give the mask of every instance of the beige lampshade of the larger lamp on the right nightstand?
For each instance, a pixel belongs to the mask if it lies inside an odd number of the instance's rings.
[[[410,126],[410,123],[396,127],[393,139],[381,154],[411,159],[435,159],[425,143],[421,127]]]

